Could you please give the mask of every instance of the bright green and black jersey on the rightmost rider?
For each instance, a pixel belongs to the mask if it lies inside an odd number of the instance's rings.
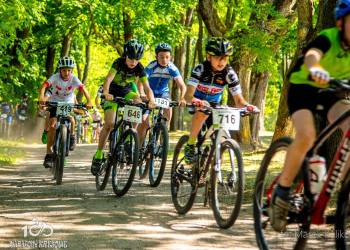
[[[337,79],[350,78],[350,51],[341,47],[341,38],[338,28],[325,29],[311,42],[304,51],[304,55],[310,48],[323,52],[320,65],[329,72],[331,77]],[[293,68],[289,81],[292,84],[308,84],[317,88],[327,88],[328,85],[320,85],[312,81],[310,72],[304,64],[304,55],[298,59]]]

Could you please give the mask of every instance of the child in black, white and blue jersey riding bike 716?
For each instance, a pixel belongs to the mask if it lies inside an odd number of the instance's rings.
[[[231,42],[221,37],[209,38],[206,44],[207,60],[197,65],[188,81],[186,101],[197,106],[215,106],[220,103],[224,87],[227,85],[237,107],[248,106],[257,109],[244,100],[236,72],[228,65],[233,53]],[[193,162],[197,135],[208,115],[201,111],[194,113],[190,137],[185,146],[185,162]]]

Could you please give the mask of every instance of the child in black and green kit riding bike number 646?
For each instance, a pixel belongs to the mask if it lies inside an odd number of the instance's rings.
[[[106,102],[103,109],[105,112],[105,123],[100,133],[97,151],[93,157],[91,173],[96,175],[103,162],[103,148],[106,144],[110,131],[114,127],[117,104],[110,102],[114,96],[124,97],[126,100],[141,102],[141,98],[135,89],[134,83],[140,81],[150,100],[149,106],[155,106],[154,97],[149,87],[144,67],[140,63],[144,47],[136,39],[129,40],[124,45],[124,54],[113,62],[107,78],[103,85],[103,94]]]

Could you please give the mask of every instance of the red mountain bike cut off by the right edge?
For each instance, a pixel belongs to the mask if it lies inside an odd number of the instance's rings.
[[[347,82],[331,80],[329,90],[335,93],[350,92]],[[272,192],[278,182],[286,151],[292,143],[292,139],[282,137],[271,143],[266,151],[258,171],[254,190],[254,229],[256,241],[260,249],[281,249],[281,242],[290,249],[304,249],[310,236],[311,225],[334,224],[334,237],[337,249],[350,249],[350,242],[346,242],[346,230],[349,231],[350,222],[348,218],[350,174],[345,169],[350,154],[350,129],[344,134],[339,144],[337,153],[329,165],[326,179],[321,192],[314,196],[310,191],[310,176],[308,159],[316,154],[323,143],[347,121],[350,110],[345,112],[336,121],[329,124],[318,135],[313,147],[308,151],[303,161],[301,171],[293,182],[289,197],[288,224],[286,232],[274,232],[269,225],[268,208],[271,204]],[[338,192],[336,213],[326,213],[330,200],[334,193]],[[288,237],[287,237],[288,236]],[[315,236],[315,235],[313,235]],[[319,235],[322,237],[322,234]],[[323,238],[325,235],[323,235]],[[314,245],[314,242],[312,242]]]

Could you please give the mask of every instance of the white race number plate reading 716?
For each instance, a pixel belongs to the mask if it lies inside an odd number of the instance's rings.
[[[214,109],[213,124],[227,130],[239,130],[240,112],[235,109]]]

